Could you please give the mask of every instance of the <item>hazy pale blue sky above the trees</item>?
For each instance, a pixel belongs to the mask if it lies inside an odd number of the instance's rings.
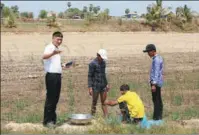
[[[67,8],[68,1],[2,1],[6,6],[18,5],[19,11],[31,11],[34,16],[37,17],[41,9],[47,11],[61,12]],[[101,10],[105,8],[110,9],[110,15],[121,16],[124,14],[126,8],[130,11],[137,11],[138,14],[146,12],[146,7],[149,4],[155,3],[155,1],[70,1],[72,6],[79,9],[83,9],[83,6],[100,6]],[[199,1],[163,1],[164,7],[175,8],[187,4],[192,10],[199,12]]]

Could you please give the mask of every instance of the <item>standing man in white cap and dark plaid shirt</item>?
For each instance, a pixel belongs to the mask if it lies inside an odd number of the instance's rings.
[[[89,64],[88,92],[92,96],[91,114],[94,115],[96,113],[97,100],[100,95],[102,110],[104,116],[106,117],[108,112],[104,102],[106,100],[106,95],[109,87],[106,79],[105,60],[107,60],[107,52],[104,49],[100,49],[97,53],[97,58],[95,58]]]

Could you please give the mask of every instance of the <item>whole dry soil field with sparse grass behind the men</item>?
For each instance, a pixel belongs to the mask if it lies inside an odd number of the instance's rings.
[[[1,33],[1,123],[40,123],[43,118],[45,82],[42,54],[52,33]],[[99,48],[108,52],[109,99],[128,83],[141,96],[149,119],[153,111],[148,86],[151,60],[142,50],[154,43],[165,61],[162,90],[164,118],[179,121],[199,118],[199,33],[64,33],[62,61],[76,60],[65,70],[57,112],[60,123],[70,113],[89,113],[88,63]],[[98,112],[101,114],[100,104]],[[116,114],[118,107],[109,108]],[[198,130],[197,130],[198,131]],[[165,132],[167,133],[167,132]]]

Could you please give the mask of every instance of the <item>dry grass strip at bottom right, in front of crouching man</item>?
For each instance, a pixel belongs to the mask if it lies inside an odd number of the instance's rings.
[[[121,124],[116,116],[111,116],[108,120],[99,121],[101,126],[90,129],[90,134],[187,134],[198,133],[199,129],[184,129],[183,127],[175,127],[165,121],[163,126],[153,126],[151,129],[143,129],[138,125]]]

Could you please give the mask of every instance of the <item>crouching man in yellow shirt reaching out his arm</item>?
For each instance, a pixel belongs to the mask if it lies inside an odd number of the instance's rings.
[[[138,124],[145,115],[142,100],[135,92],[129,90],[127,84],[123,84],[120,87],[120,93],[121,96],[117,100],[105,101],[105,104],[110,106],[119,104],[122,122]]]

